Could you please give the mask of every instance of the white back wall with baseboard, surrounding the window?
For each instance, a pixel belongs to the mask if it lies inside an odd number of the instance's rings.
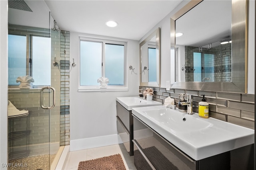
[[[79,35],[127,41],[128,91],[78,92]],[[70,72],[70,151],[120,143],[116,130],[116,97],[138,96],[139,42],[128,39],[70,33],[70,59],[77,66]],[[129,70],[132,66],[134,72]]]

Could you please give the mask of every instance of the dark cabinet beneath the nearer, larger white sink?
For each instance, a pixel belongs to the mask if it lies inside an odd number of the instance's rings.
[[[133,115],[145,128],[134,130],[134,165],[138,170],[250,170],[253,145],[194,160]],[[251,156],[251,158],[250,158]]]

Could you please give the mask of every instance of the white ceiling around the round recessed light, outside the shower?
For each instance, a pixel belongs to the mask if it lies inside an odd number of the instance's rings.
[[[45,0],[62,30],[140,40],[182,0]],[[106,21],[118,22],[107,27]]]

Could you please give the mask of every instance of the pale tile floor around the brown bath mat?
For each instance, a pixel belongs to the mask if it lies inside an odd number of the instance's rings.
[[[136,170],[133,156],[129,156],[123,144],[69,152],[64,170],[77,170],[80,161],[110,156],[118,153],[121,154],[127,170]]]

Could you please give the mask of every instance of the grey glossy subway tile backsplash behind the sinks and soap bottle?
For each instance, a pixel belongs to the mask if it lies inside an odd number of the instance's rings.
[[[179,95],[182,93],[193,96],[193,111],[198,113],[198,103],[205,95],[206,102],[209,103],[209,116],[244,127],[254,129],[254,95],[236,94],[224,92],[204,92],[193,90],[181,90],[145,87],[139,89],[152,88],[154,90],[153,100],[164,104],[167,97],[174,98],[176,106],[179,102]]]

